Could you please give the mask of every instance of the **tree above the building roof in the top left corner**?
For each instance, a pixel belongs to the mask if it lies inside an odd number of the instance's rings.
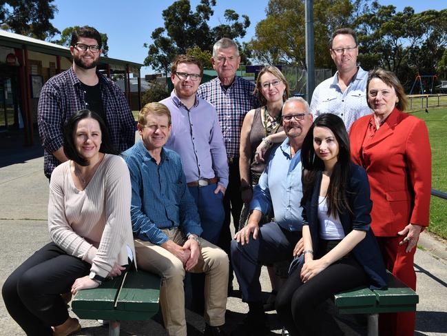
[[[54,28],[51,19],[57,7],[54,0],[1,0],[0,28],[17,34],[50,40],[59,30]]]

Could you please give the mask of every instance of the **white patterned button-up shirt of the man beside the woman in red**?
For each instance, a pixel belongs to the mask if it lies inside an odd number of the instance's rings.
[[[311,113],[313,119],[323,113],[332,113],[343,119],[349,131],[354,121],[371,114],[366,101],[366,81],[368,72],[359,67],[349,86],[342,92],[338,85],[338,72],[322,81],[313,91]]]

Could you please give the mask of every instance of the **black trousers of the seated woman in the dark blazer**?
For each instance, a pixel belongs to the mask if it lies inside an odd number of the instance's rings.
[[[318,250],[315,259],[322,257],[335,245],[320,244],[322,248]],[[339,335],[333,318],[324,310],[324,302],[342,290],[368,284],[363,267],[349,254],[303,284],[300,279],[302,266],[289,275],[276,296],[280,321],[292,336]],[[322,326],[330,326],[331,329],[322,330]]]

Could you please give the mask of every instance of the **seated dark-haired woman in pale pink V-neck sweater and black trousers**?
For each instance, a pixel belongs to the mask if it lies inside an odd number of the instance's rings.
[[[95,288],[121,275],[134,259],[129,170],[115,154],[104,121],[81,110],[67,120],[63,150],[69,159],[50,181],[48,228],[52,242],[8,277],[2,294],[27,335],[78,331],[61,293]]]

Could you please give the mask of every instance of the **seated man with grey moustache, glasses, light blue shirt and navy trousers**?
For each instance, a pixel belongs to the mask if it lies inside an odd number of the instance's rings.
[[[309,104],[291,97],[282,106],[282,128],[287,139],[271,153],[259,183],[253,188],[247,226],[231,241],[231,264],[238,278],[242,301],[249,313],[231,335],[269,335],[262,304],[262,265],[291,260],[302,253],[302,165],[301,146],[313,117]],[[260,225],[264,215],[275,215],[271,223]]]

